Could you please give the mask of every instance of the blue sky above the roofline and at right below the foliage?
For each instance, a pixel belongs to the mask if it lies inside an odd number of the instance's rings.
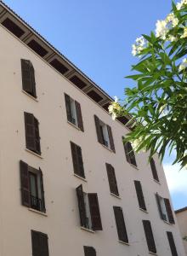
[[[155,30],[166,17],[170,0],[4,0],[8,6],[59,49],[109,95],[123,97],[124,79],[136,58],[131,45]],[[178,172],[165,158],[167,181],[175,209],[187,206],[187,171]],[[177,181],[177,182],[176,182]]]

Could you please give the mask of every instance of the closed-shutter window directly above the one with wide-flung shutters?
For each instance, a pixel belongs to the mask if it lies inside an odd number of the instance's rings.
[[[74,173],[85,178],[84,166],[82,161],[82,148],[71,142],[71,154],[73,161]]]

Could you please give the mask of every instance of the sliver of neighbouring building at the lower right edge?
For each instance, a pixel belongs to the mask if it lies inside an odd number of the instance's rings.
[[[184,242],[185,255],[187,255],[187,207],[175,211],[181,237]],[[186,237],[186,239],[184,239]]]

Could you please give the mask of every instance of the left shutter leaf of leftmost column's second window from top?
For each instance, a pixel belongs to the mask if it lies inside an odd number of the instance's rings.
[[[36,139],[35,139],[35,118],[32,113],[25,114],[26,125],[26,148],[31,151],[37,151]]]

